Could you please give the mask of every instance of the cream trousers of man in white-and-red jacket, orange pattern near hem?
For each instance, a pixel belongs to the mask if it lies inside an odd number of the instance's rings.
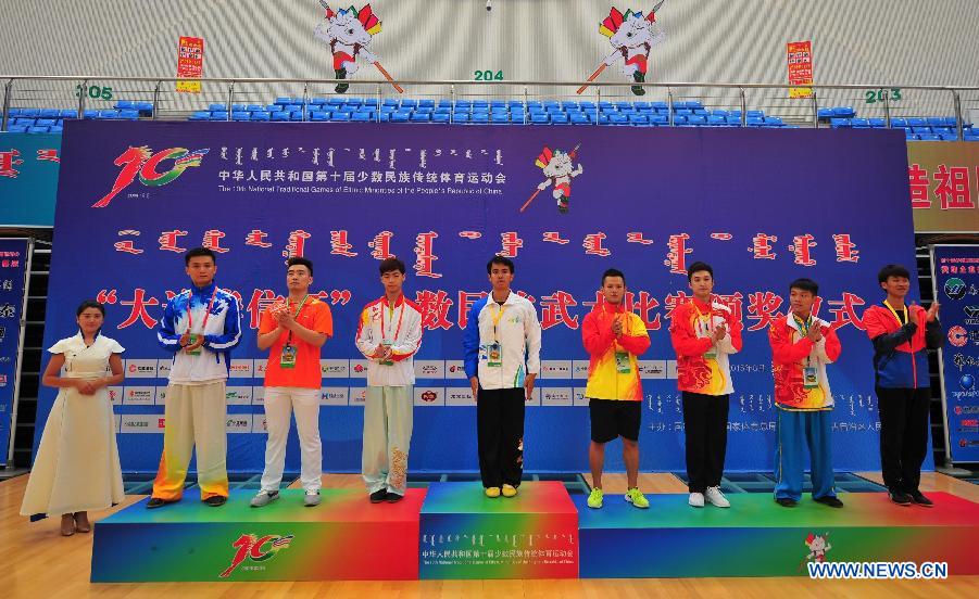
[[[368,386],[364,403],[362,470],[367,493],[404,495],[412,443],[412,386]]]

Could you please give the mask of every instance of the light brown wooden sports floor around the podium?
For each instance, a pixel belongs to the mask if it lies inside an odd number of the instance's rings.
[[[880,473],[859,475],[880,482]],[[586,476],[588,480],[589,476]],[[625,476],[606,474],[605,493],[624,493]],[[516,599],[535,597],[593,597],[612,599],[664,596],[778,597],[808,599],[829,597],[921,597],[925,599],[979,597],[979,576],[952,576],[946,581],[811,581],[786,578],[658,578],[601,581],[413,581],[325,583],[139,583],[91,584],[91,534],[59,534],[58,518],[29,523],[18,514],[27,476],[0,482],[0,598],[166,597],[197,599],[228,597],[275,599],[278,597],[329,597],[397,599],[464,597]],[[326,474],[324,486],[361,488],[360,476]],[[640,487],[648,494],[685,493],[672,474],[642,474]],[[921,489],[942,490],[979,502],[979,486],[938,473],[924,473]],[[92,522],[128,506],[143,495],[129,495],[122,506],[90,514]],[[844,497],[845,499],[845,497]],[[979,547],[979,544],[977,544]],[[974,548],[979,551],[979,549]],[[655,560],[656,556],[649,559]]]

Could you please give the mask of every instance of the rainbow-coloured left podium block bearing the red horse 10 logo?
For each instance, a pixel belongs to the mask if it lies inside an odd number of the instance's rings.
[[[139,501],[95,525],[91,582],[399,581],[418,577],[424,489],[398,504],[365,490],[323,489],[319,506],[284,489],[264,508],[233,490],[209,507],[197,497],[147,510]]]

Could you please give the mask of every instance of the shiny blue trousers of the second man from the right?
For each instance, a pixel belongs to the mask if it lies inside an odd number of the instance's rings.
[[[802,498],[803,446],[809,449],[813,499],[834,497],[832,473],[832,410],[790,411],[776,408],[775,498]]]

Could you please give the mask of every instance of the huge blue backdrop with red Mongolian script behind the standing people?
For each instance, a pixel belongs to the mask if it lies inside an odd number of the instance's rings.
[[[690,297],[693,260],[714,266],[715,291],[744,328],[732,359],[728,468],[771,468],[766,331],[801,276],[820,283],[819,315],[843,343],[829,370],[836,466],[879,468],[861,316],[881,298],[881,265],[915,263],[900,131],[70,122],[64,155],[46,344],[74,332],[80,300],[106,304],[105,334],[126,347],[127,379],[112,390],[126,470],[153,470],[160,458],[170,359],[152,329],[189,285],[180,254],[201,244],[218,253],[217,283],[240,296],[247,329],[228,382],[231,470],[262,468],[266,355],[254,330],[286,291],[292,255],[315,263],[315,291],[334,313],[323,353],[324,467],[360,469],[365,372],[353,337],[360,310],[382,292],[378,260],[397,255],[425,314],[410,467],[477,470],[462,328],[490,288],[494,254],[513,257],[514,286],[544,329],[528,470],[588,468],[580,326],[608,267],[625,271],[629,307],[652,337],[640,362],[642,469],[683,469],[667,329]],[[39,421],[53,396],[42,397]],[[623,468],[617,454],[608,453],[610,469]],[[298,466],[291,442],[287,467]]]

